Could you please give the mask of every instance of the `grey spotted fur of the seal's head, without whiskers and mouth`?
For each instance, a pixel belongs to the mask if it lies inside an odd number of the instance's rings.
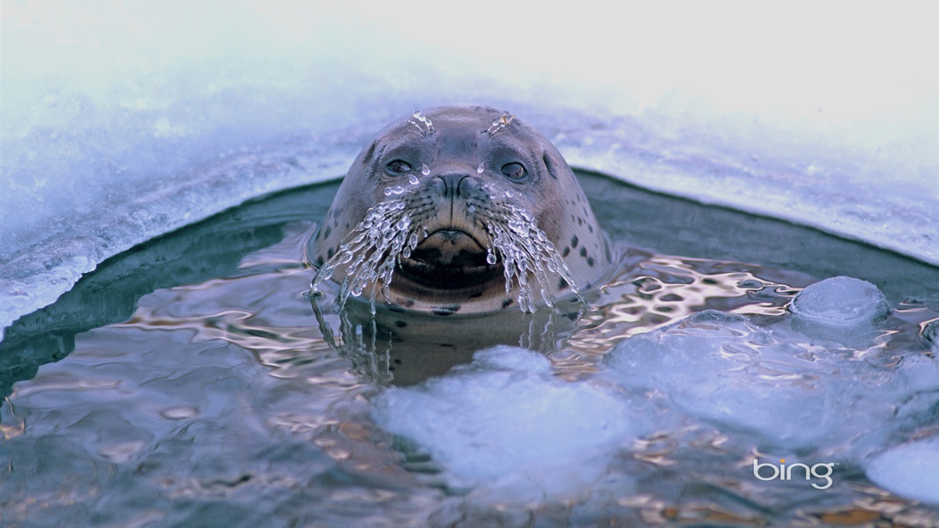
[[[400,163],[390,165],[395,161]],[[511,163],[524,167],[524,179],[510,178],[516,176],[505,171]],[[407,172],[397,170],[406,166]],[[606,235],[561,153],[516,116],[484,106],[434,108],[379,132],[352,163],[319,232],[308,242],[310,263],[319,267],[330,261],[366,212],[389,199],[387,190],[408,182],[420,187],[412,193],[420,199],[408,200],[412,221],[430,230],[459,230],[482,241],[485,223],[480,219],[498,210],[500,201],[531,213],[574,283],[552,278],[545,286],[551,295],[591,287],[608,269]],[[342,281],[344,272],[337,267],[332,280]],[[516,309],[515,292],[506,292],[498,273],[491,275],[478,284],[437,287],[395,272],[385,302],[439,316]]]

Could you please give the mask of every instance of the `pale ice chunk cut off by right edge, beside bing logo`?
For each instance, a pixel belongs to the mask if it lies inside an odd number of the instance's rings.
[[[939,505],[939,441],[905,443],[872,458],[868,478],[906,497]]]

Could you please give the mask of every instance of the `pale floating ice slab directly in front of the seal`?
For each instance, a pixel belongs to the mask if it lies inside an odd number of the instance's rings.
[[[438,378],[390,388],[377,422],[417,443],[450,486],[565,493],[600,474],[605,455],[639,431],[622,396],[564,381],[527,349],[498,346]]]

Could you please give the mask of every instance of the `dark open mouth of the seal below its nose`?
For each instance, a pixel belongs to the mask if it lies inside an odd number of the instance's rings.
[[[484,245],[466,231],[439,229],[400,259],[399,272],[424,287],[478,287],[502,275],[501,263],[489,264],[487,255]]]

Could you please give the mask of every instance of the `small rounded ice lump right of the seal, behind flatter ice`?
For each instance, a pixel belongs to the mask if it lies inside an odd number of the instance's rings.
[[[870,325],[890,311],[884,294],[867,281],[832,277],[798,293],[790,305],[796,318],[826,327]]]

